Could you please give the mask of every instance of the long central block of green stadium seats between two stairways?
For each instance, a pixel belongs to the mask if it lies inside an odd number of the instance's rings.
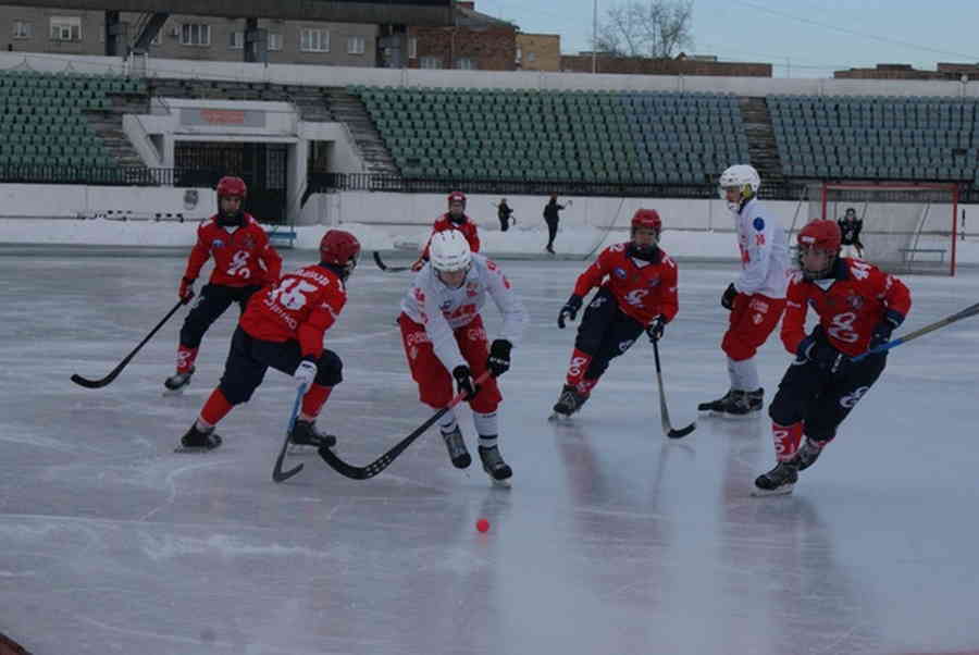
[[[703,184],[746,161],[719,94],[351,86],[405,177]]]

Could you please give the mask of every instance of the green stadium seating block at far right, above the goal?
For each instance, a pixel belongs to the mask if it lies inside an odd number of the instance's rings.
[[[789,177],[979,181],[979,112],[969,99],[770,96]]]

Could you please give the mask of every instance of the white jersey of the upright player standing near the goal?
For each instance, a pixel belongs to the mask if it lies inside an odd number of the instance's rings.
[[[734,212],[743,271],[734,281],[741,294],[784,298],[789,286],[789,242],[785,231],[757,198]]]

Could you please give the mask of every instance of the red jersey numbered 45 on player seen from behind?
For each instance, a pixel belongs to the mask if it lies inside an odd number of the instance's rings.
[[[323,354],[323,334],[346,302],[347,289],[339,275],[310,264],[255,294],[239,323],[255,338],[297,341],[303,357],[318,358]]]

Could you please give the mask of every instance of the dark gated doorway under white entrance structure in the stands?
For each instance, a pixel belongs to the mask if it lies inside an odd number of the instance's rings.
[[[262,223],[282,224],[287,219],[288,152],[287,144],[177,141],[174,184],[214,188],[223,175],[237,175],[248,185],[245,210]]]

